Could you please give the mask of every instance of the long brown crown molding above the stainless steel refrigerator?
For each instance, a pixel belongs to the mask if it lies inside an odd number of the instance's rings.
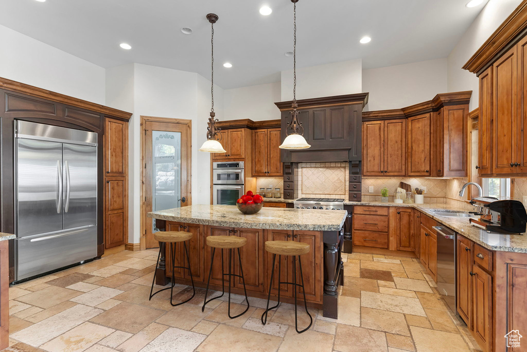
[[[24,93],[27,95],[39,97],[46,100],[51,100],[57,103],[62,103],[65,105],[70,105],[74,107],[79,107],[81,109],[86,109],[104,115],[108,115],[114,118],[123,119],[129,121],[132,117],[132,113],[113,109],[113,107],[104,106],[101,104],[92,103],[86,100],[78,99],[69,95],[64,95],[61,93],[56,93],[48,91],[42,88],[38,88],[29,84],[16,82],[8,80],[6,78],[0,77],[0,89],[5,89],[7,91]]]

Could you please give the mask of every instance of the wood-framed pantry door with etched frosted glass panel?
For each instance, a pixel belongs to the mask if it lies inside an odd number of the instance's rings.
[[[143,118],[142,125],[145,133],[143,236],[145,248],[155,248],[159,243],[153,234],[158,229],[155,220],[146,214],[190,204],[190,121]]]

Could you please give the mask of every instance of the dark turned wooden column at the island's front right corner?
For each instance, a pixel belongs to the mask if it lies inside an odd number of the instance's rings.
[[[324,297],[323,312],[326,318],[338,318],[338,286],[344,283],[342,245],[344,229],[324,231]]]

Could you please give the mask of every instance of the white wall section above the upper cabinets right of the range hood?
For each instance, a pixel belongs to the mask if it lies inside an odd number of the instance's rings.
[[[447,60],[363,70],[363,92],[369,92],[364,111],[401,109],[447,92]]]

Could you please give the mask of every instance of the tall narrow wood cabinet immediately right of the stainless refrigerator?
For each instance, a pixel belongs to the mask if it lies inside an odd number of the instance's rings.
[[[105,118],[104,246],[128,239],[128,122]]]

